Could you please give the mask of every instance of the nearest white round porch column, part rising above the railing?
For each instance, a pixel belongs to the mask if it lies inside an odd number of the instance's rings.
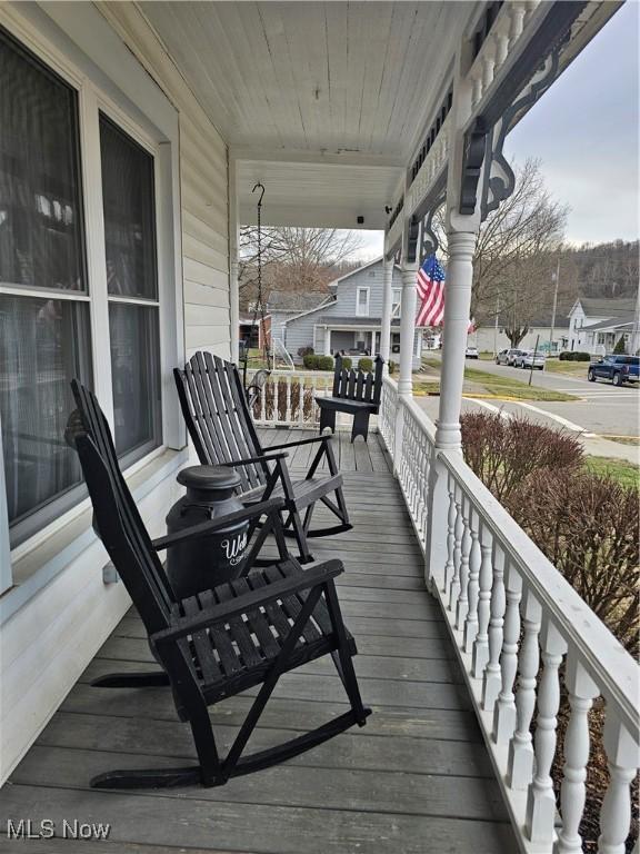
[[[440,410],[436,429],[436,447],[446,450],[461,449],[460,409],[476,239],[474,231],[450,230],[448,234],[449,265],[444,291]]]

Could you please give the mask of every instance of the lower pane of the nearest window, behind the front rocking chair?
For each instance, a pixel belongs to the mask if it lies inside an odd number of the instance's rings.
[[[63,440],[74,408],[70,380],[91,383],[89,306],[0,295],[0,415],[9,523],[81,480]]]

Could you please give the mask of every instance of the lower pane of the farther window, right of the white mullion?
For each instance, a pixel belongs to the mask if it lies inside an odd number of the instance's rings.
[[[161,440],[158,309],[109,306],[116,449],[139,457]]]

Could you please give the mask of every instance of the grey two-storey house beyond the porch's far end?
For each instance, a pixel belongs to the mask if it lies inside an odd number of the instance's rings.
[[[376,354],[380,349],[383,294],[382,258],[341,276],[329,285],[328,301],[290,316],[283,321],[283,342],[299,360],[301,347],[313,347],[318,354]],[[393,267],[393,304],[391,316],[391,358],[400,359],[400,295],[402,277]],[[273,329],[276,325],[273,325]],[[276,334],[276,331],[273,332]],[[413,338],[413,366],[420,367],[422,330]]]

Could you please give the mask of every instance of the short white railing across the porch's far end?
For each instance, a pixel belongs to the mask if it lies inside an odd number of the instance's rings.
[[[248,378],[253,374],[249,371]],[[332,388],[332,373],[272,370],[254,404],[253,419],[261,427],[313,428],[320,421],[316,397],[327,397]]]

